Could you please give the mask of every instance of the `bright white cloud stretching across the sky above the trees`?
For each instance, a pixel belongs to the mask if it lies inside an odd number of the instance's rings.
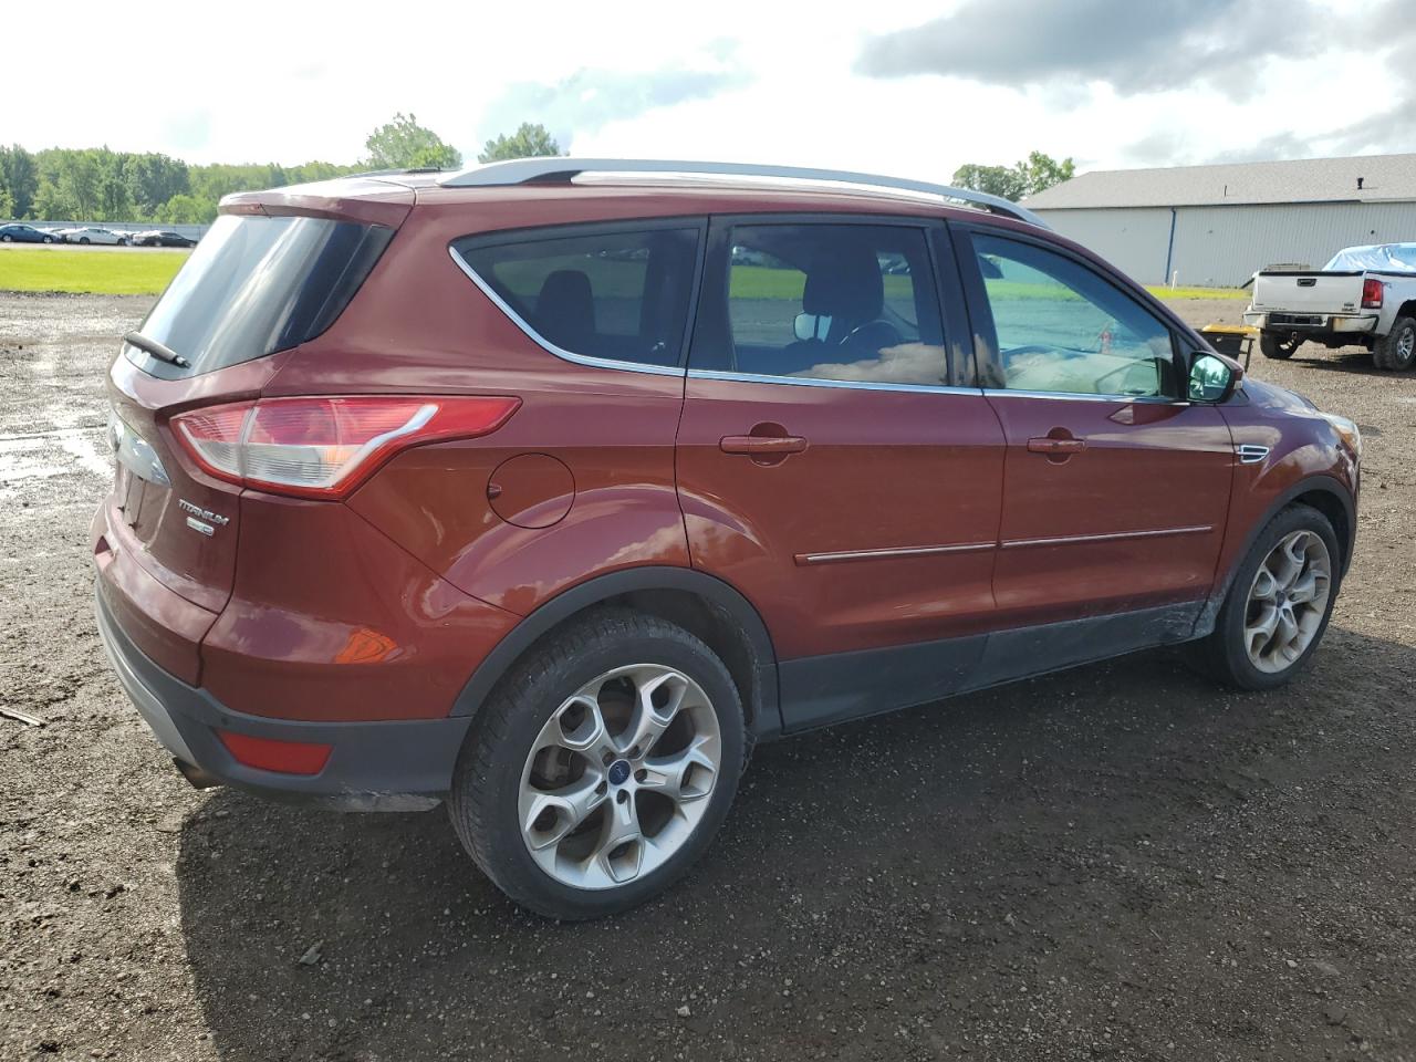
[[[64,8],[82,33],[47,33],[44,47],[7,54],[0,137],[31,149],[108,144],[191,161],[351,161],[371,129],[404,110],[469,160],[483,139],[503,132],[489,123],[524,119],[581,122],[564,146],[583,154],[947,180],[963,161],[1011,163],[1034,149],[1075,156],[1086,169],[1199,161],[1263,144],[1321,149],[1341,143],[1318,135],[1349,122],[1359,92],[1371,88],[1369,45],[1332,45],[1303,62],[1264,59],[1246,72],[1238,95],[1226,92],[1222,75],[1123,96],[1103,69],[1095,81],[1022,88],[857,72],[872,38],[959,7],[957,0],[840,8],[722,0],[690,17],[661,0],[445,7],[82,0]],[[37,37],[23,24],[11,30],[18,40]],[[1005,38],[1014,30],[997,33]],[[732,76],[694,91],[664,86],[666,71],[704,69]],[[558,101],[538,84],[573,88],[575,99]],[[517,118],[508,102],[551,113]],[[1402,146],[1372,144],[1383,147]]]

